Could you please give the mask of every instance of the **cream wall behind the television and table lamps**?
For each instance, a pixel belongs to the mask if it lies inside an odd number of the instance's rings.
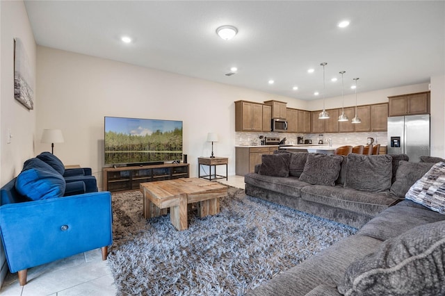
[[[234,101],[290,100],[48,47],[38,47],[37,52],[37,151],[50,149],[40,143],[43,129],[62,129],[65,142],[55,144],[54,154],[65,164],[92,167],[99,183],[104,165],[104,116],[182,120],[191,176],[197,176],[197,157],[211,154],[207,133],[216,132],[220,141],[214,144],[215,155],[229,157],[229,174],[233,175]],[[306,102],[293,99],[293,104],[305,106]]]

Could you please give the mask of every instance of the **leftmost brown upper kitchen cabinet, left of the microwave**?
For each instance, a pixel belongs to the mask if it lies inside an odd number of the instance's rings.
[[[236,101],[235,131],[263,131],[263,104]]]

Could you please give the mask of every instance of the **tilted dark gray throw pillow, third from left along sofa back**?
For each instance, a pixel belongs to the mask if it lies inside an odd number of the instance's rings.
[[[340,172],[341,156],[325,154],[308,154],[305,169],[301,173],[300,181],[312,185],[335,186]]]

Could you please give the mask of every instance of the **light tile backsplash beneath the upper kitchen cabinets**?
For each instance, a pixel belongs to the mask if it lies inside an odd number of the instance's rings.
[[[254,139],[257,139],[257,145],[260,145],[259,135],[265,137],[274,138],[286,138],[286,144],[298,144],[297,137],[303,137],[305,140],[312,140],[312,144],[318,144],[318,140],[323,138],[323,142],[326,144],[326,139],[332,139],[332,145],[366,145],[367,138],[374,138],[374,144],[387,145],[387,132],[361,132],[361,133],[323,133],[320,137],[316,133],[259,133],[248,131],[236,131],[235,132],[235,145],[254,145]]]

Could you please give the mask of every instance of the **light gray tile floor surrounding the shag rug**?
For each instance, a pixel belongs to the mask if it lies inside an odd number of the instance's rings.
[[[244,176],[229,176],[220,183],[244,189]],[[114,279],[100,249],[94,249],[28,270],[28,283],[20,286],[17,273],[8,274],[1,296],[108,296],[116,295]]]

